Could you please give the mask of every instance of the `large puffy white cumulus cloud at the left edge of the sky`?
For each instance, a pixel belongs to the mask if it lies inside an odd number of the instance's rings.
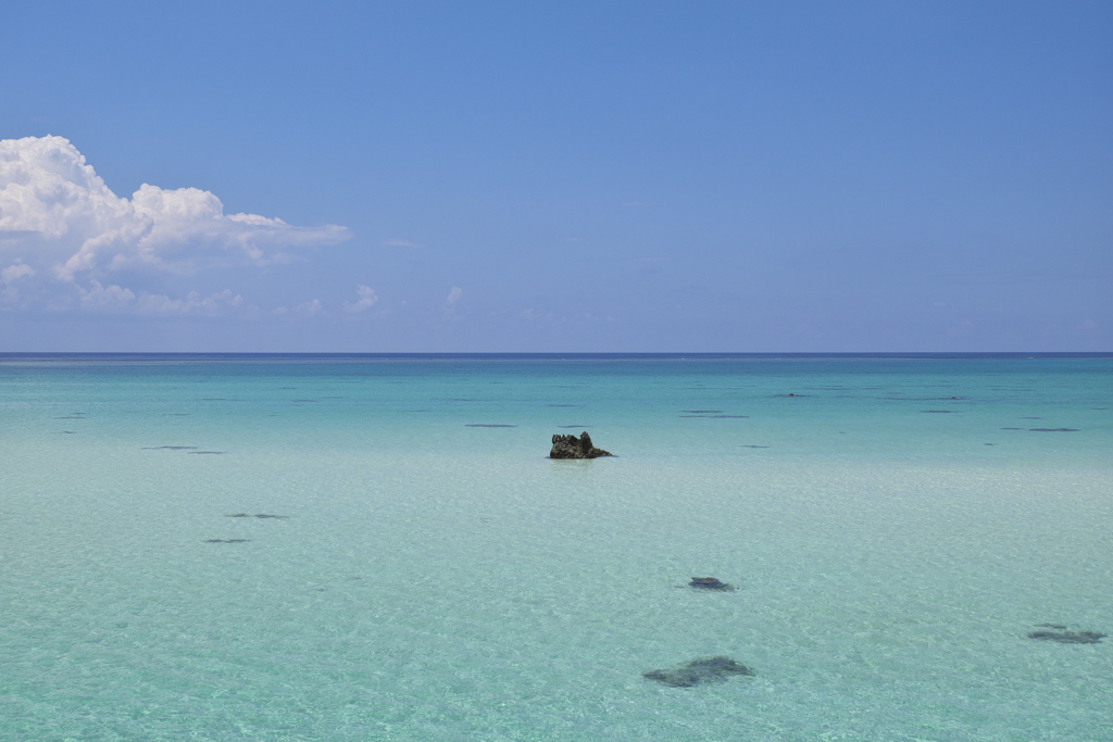
[[[0,140],[0,254],[17,258],[4,276],[13,267],[17,278],[43,274],[62,281],[122,268],[189,275],[280,263],[289,259],[288,249],[349,237],[336,225],[296,227],[255,214],[226,215],[219,198],[197,188],[144,184],[130,199],[121,198],[67,139]],[[102,293],[111,287],[87,285],[79,289],[82,306],[88,296],[108,300]],[[111,297],[121,299],[120,293]],[[178,301],[191,306],[188,298]]]

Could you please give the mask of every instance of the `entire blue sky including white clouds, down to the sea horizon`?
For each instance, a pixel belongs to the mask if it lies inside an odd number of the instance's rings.
[[[1113,349],[1113,4],[286,4],[7,3],[0,350]]]

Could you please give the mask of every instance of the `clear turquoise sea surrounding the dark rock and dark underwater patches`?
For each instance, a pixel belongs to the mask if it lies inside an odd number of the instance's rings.
[[[0,357],[0,739],[1113,739],[1111,372]]]

